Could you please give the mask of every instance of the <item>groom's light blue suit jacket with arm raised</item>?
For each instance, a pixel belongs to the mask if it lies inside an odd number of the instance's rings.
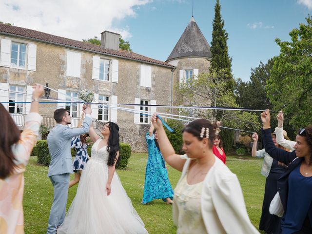
[[[67,125],[57,124],[49,133],[47,143],[51,162],[48,176],[73,173],[72,154],[70,151],[72,137],[89,132],[92,118],[86,115],[80,128],[71,129]]]

